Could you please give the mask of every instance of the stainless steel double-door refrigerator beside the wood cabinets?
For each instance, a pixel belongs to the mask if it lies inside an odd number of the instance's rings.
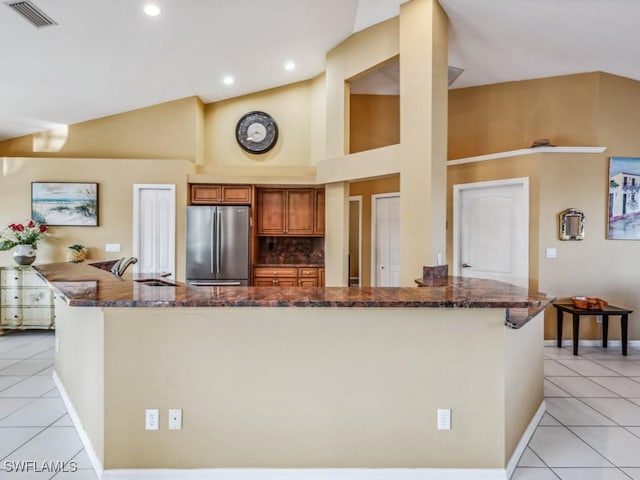
[[[187,207],[187,283],[249,285],[251,208]]]

